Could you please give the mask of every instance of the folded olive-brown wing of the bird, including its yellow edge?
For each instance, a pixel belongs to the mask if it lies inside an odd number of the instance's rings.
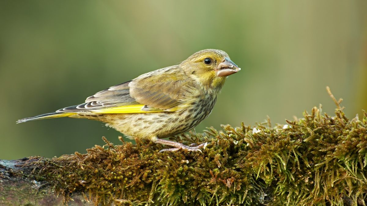
[[[86,99],[83,104],[65,107],[58,112],[93,112],[110,114],[175,111],[179,104],[183,72],[177,66],[143,74]]]

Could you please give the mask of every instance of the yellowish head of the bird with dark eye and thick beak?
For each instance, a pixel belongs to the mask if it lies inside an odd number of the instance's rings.
[[[204,49],[191,55],[179,65],[185,73],[204,87],[222,87],[227,76],[241,70],[226,52]]]

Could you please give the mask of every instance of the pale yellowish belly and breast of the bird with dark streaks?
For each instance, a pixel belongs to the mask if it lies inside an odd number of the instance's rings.
[[[208,117],[216,99],[207,96],[176,112],[107,114],[104,122],[128,136],[152,140],[170,137],[194,128]]]

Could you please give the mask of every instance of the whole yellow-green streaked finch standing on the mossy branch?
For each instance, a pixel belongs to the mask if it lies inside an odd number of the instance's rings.
[[[163,138],[193,129],[209,116],[226,78],[241,69],[219,49],[204,49],[178,65],[142,74],[88,97],[82,104],[19,119],[17,123],[58,117],[104,122],[126,136],[149,139],[173,148],[200,151]]]

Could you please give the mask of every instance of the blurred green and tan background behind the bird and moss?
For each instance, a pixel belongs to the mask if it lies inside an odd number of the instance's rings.
[[[119,143],[101,122],[20,118],[83,103],[109,86],[175,65],[196,51],[226,51],[230,76],[210,117],[272,123],[323,104],[330,86],[353,118],[367,109],[367,1],[1,1],[0,159],[85,152]]]

